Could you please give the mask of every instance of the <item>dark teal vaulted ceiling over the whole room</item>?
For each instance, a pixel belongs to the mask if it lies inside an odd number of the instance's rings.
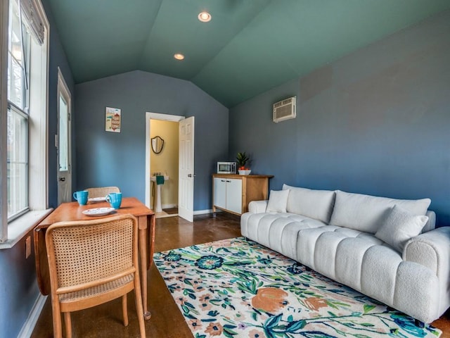
[[[76,83],[145,70],[190,80],[228,107],[450,8],[449,0],[48,1]],[[198,20],[203,10],[210,23]]]

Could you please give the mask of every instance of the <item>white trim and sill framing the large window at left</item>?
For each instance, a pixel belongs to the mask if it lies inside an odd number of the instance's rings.
[[[7,92],[7,69],[8,69],[8,13],[9,0],[0,0],[0,249],[8,249],[18,243],[25,234],[30,232],[46,215],[51,212],[48,208],[48,112],[49,112],[49,20],[46,17],[44,7],[40,0],[35,0],[34,4],[37,8],[38,15],[44,23],[44,45],[41,48],[41,58],[34,58],[35,70],[46,70],[45,75],[41,76],[41,83],[34,86],[34,90],[30,92],[30,99],[38,102],[41,110],[45,110],[45,114],[39,114],[39,117],[33,115],[32,123],[30,123],[30,142],[29,151],[33,156],[29,156],[29,205],[30,211],[20,216],[8,224],[8,194],[7,186],[7,153],[6,153],[6,135],[7,135],[7,111],[8,111],[8,92]],[[6,27],[6,28],[5,28]],[[33,71],[33,70],[32,70]],[[33,87],[32,87],[33,89]],[[37,90],[36,90],[37,89]],[[31,112],[30,112],[31,113]]]

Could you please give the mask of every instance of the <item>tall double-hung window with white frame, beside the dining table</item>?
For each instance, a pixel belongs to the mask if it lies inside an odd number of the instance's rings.
[[[47,206],[49,23],[40,0],[0,0],[0,8],[6,4],[7,15],[0,15],[0,30],[8,32],[6,41],[0,37],[0,98],[7,97],[0,101],[0,249],[11,234],[20,236],[33,225],[16,227],[32,219],[29,211]]]

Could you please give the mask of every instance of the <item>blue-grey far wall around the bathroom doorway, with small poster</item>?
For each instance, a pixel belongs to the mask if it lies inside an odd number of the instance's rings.
[[[139,70],[76,85],[77,189],[114,185],[145,201],[146,112],[195,116],[194,210],[211,208],[214,163],[228,153],[228,109],[191,82]],[[122,110],[105,132],[105,107]]]

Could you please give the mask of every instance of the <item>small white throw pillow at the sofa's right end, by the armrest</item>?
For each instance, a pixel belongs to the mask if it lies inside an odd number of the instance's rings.
[[[425,215],[413,215],[394,205],[387,212],[383,225],[375,233],[375,237],[401,252],[411,237],[420,234],[427,221],[428,217]]]

